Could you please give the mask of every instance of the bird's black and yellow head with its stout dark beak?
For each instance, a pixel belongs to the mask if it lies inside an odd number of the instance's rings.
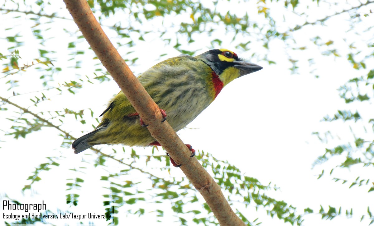
[[[262,67],[254,63],[241,60],[233,51],[221,48],[209,50],[199,56],[218,75],[223,85],[229,84],[236,78],[261,70]]]

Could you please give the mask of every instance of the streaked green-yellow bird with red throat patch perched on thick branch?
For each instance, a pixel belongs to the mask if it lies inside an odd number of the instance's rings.
[[[221,48],[195,57],[181,55],[170,58],[145,70],[138,79],[159,106],[163,121],[167,119],[177,132],[206,109],[224,86],[261,69],[257,64],[240,59],[233,51]],[[74,153],[99,144],[161,146],[145,128],[147,125],[122,91],[109,101],[100,116],[101,122],[92,132],[73,142]],[[194,156],[192,146],[187,147]],[[174,166],[180,166],[172,158],[170,160]]]

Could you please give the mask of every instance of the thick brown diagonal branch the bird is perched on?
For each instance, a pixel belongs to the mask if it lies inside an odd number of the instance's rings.
[[[74,22],[101,63],[142,117],[151,135],[168,151],[194,187],[202,194],[220,225],[245,225],[231,209],[220,186],[183,144],[167,121],[161,123],[159,107],[111,44],[85,0],[64,0]]]

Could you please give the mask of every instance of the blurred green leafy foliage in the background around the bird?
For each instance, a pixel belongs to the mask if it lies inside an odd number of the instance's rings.
[[[117,48],[125,47],[122,52],[124,59],[130,65],[137,65],[139,53],[135,52],[135,47],[141,45],[144,41],[150,39],[160,39],[165,46],[171,46],[182,54],[195,54],[202,46],[220,47],[224,42],[224,37],[232,37],[232,44],[239,50],[251,51],[252,58],[266,61],[270,64],[278,63],[279,59],[272,59],[272,43],[281,41],[284,44],[287,66],[291,73],[298,73],[298,69],[303,65],[302,59],[296,59],[300,51],[305,53],[312,48],[318,49],[321,56],[344,58],[346,63],[358,71],[361,76],[351,78],[346,84],[342,85],[338,91],[340,97],[345,101],[345,110],[337,110],[333,116],[325,116],[324,123],[336,123],[339,121],[344,124],[349,131],[352,131],[350,141],[343,140],[341,144],[331,147],[328,142],[331,140],[331,131],[314,132],[321,142],[326,144],[325,153],[318,157],[313,166],[325,164],[331,158],[344,156],[341,164],[330,170],[329,176],[335,182],[348,182],[352,186],[358,185],[367,187],[367,192],[374,191],[374,184],[370,179],[361,179],[358,176],[355,180],[338,178],[334,172],[343,168],[352,166],[373,167],[373,132],[374,118],[373,114],[367,116],[362,114],[361,109],[373,104],[374,90],[374,69],[373,56],[373,26],[362,25],[367,17],[373,17],[373,12],[367,6],[373,6],[374,1],[319,1],[311,0],[301,3],[297,0],[230,0],[230,1],[193,1],[193,0],[129,0],[129,1],[106,1],[106,0],[88,0],[95,16],[104,28],[114,31],[117,37],[115,45]],[[227,6],[221,7],[223,3]],[[31,133],[40,131],[45,127],[54,128],[62,139],[62,148],[70,148],[71,141],[75,138],[66,131],[65,122],[74,122],[85,124],[93,117],[92,109],[67,109],[61,106],[60,109],[46,110],[40,109],[40,105],[45,101],[53,101],[57,95],[74,95],[80,89],[90,85],[99,85],[110,81],[107,72],[92,55],[83,36],[77,29],[69,27],[73,22],[66,10],[54,9],[54,1],[5,1],[0,6],[1,12],[5,15],[11,15],[16,21],[21,18],[30,25],[29,31],[34,37],[33,47],[36,51],[30,59],[22,59],[19,51],[23,50],[25,44],[30,40],[25,40],[25,31],[19,30],[13,23],[9,23],[1,38],[6,41],[6,45],[1,46],[0,60],[2,61],[1,84],[6,88],[2,90],[2,104],[0,110],[9,112],[8,120],[12,121],[10,128],[4,128],[4,135],[12,136],[15,139],[26,138]],[[243,7],[232,7],[241,6]],[[280,9],[282,12],[274,12],[273,9]],[[241,12],[239,8],[245,8]],[[331,14],[315,17],[315,10],[322,8],[330,9]],[[239,13],[235,13],[235,9]],[[279,17],[278,14],[283,14]],[[298,19],[293,16],[297,15]],[[340,17],[348,15],[346,17]],[[119,16],[121,20],[113,22],[114,16]],[[117,17],[118,18],[118,17]],[[177,18],[177,19],[174,19]],[[334,18],[349,18],[349,27],[346,29],[345,37],[325,37],[323,30],[316,32],[315,36],[310,37],[309,41],[298,40],[300,32],[314,27],[324,28],[328,22]],[[22,22],[23,22],[22,21]],[[54,26],[55,21],[64,21],[66,26]],[[291,21],[291,22],[290,22]],[[22,23],[21,22],[21,23]],[[16,22],[15,22],[16,23]],[[157,25],[157,26],[155,26]],[[54,34],[67,35],[61,43],[53,43]],[[201,34],[209,37],[201,39]],[[354,38],[350,37],[353,35]],[[151,38],[150,38],[151,37]],[[341,40],[344,41],[346,49],[341,49]],[[356,41],[357,40],[357,41]],[[196,42],[200,45],[196,47]],[[61,46],[66,47],[66,53],[59,53]],[[195,46],[195,47],[193,47]],[[308,52],[307,52],[308,53]],[[160,52],[159,56],[165,56],[165,52]],[[53,62],[64,62],[62,56],[67,56],[67,66],[62,68],[55,66]],[[315,56],[315,55],[313,55]],[[316,78],[318,67],[311,55],[307,58],[307,64],[310,67],[310,74]],[[92,59],[92,60],[91,60]],[[93,62],[93,66],[87,66],[87,61]],[[30,63],[31,62],[31,63]],[[93,72],[87,73],[79,70],[81,68],[91,68]],[[73,74],[72,76],[68,76]],[[64,76],[61,76],[61,75]],[[39,75],[38,77],[32,77]],[[61,80],[63,77],[64,81]],[[30,80],[29,80],[30,79]],[[29,87],[28,81],[39,79],[40,86]],[[38,81],[38,80],[37,80]],[[56,82],[58,81],[58,82]],[[27,91],[24,91],[27,88]],[[19,98],[19,99],[17,99]],[[23,99],[22,99],[23,98]],[[15,100],[28,101],[27,106],[18,106]],[[47,105],[47,104],[45,104]],[[44,105],[44,106],[45,106]],[[13,112],[10,112],[13,111]],[[331,114],[331,113],[330,113]],[[91,121],[90,121],[91,122]],[[356,136],[354,125],[361,123],[365,129],[367,137]],[[95,125],[92,125],[95,127]],[[333,129],[334,126],[331,126]],[[334,132],[335,134],[335,132]],[[2,139],[2,138],[0,138]],[[117,150],[113,148],[113,154],[105,154],[100,150],[94,149],[97,158],[94,166],[107,170],[101,176],[100,185],[107,193],[102,194],[105,201],[103,203],[103,214],[110,214],[108,223],[115,225],[122,222],[120,212],[126,211],[128,214],[144,216],[151,207],[142,208],[144,205],[133,205],[146,203],[152,199],[155,203],[169,203],[175,216],[179,219],[181,225],[190,225],[188,216],[193,216],[193,222],[203,225],[218,225],[217,220],[212,215],[207,204],[197,204],[200,198],[194,188],[191,188],[185,178],[165,179],[156,176],[153,163],[164,167],[157,167],[161,172],[168,172],[169,161],[165,156],[141,156],[135,150],[126,151],[125,148]],[[41,180],[41,172],[52,170],[60,166],[60,158],[47,157],[45,163],[39,164],[35,171],[29,176],[30,183],[25,185],[23,190],[31,189],[35,182]],[[245,176],[239,169],[230,165],[226,161],[221,161],[208,153],[201,151],[197,158],[203,166],[214,175],[215,180],[221,186],[226,197],[230,202],[237,202],[245,207],[255,207],[256,210],[264,210],[270,217],[277,217],[291,225],[300,225],[303,222],[305,214],[318,213],[322,219],[332,220],[336,216],[344,215],[350,217],[353,214],[352,209],[342,210],[341,207],[322,207],[319,210],[305,208],[304,211],[284,202],[275,200],[266,194],[269,190],[277,191],[274,185],[263,185],[260,181],[250,176]],[[124,160],[132,159],[133,163],[125,163]],[[137,166],[136,162],[143,163]],[[144,161],[143,161],[144,160]],[[119,164],[121,170],[113,172],[107,167],[111,164]],[[82,161],[78,169],[70,169],[77,173],[75,178],[67,178],[66,203],[72,206],[79,205],[80,188],[85,186],[85,170],[88,168],[88,162]],[[319,175],[318,179],[325,176],[325,171]],[[135,173],[144,175],[143,181],[134,180],[129,176]],[[144,181],[151,182],[150,189],[144,185]],[[371,194],[371,193],[370,193]],[[6,197],[12,200],[9,197]],[[151,210],[157,214],[157,219],[162,221],[164,210]],[[47,211],[48,212],[48,211]],[[50,212],[50,211],[49,211]],[[51,212],[50,212],[51,213]],[[343,214],[342,214],[343,213]],[[374,222],[374,216],[367,208],[367,213],[362,214],[362,218],[370,219],[370,224]],[[246,214],[237,210],[237,215],[248,225],[258,225],[260,220],[255,218],[249,220]],[[43,223],[44,220],[41,220]],[[13,223],[35,223],[33,219],[22,219],[20,222]]]

